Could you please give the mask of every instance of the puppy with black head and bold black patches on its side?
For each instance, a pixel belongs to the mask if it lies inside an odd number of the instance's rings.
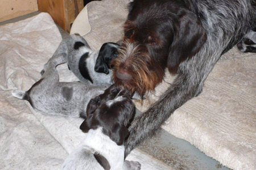
[[[106,42],[99,51],[93,51],[79,34],[69,35],[61,41],[58,49],[48,63],[68,63],[69,69],[81,83],[102,86],[112,83],[113,71],[109,63],[117,57],[119,45]],[[57,62],[56,62],[57,61]],[[44,70],[42,70],[43,74]]]

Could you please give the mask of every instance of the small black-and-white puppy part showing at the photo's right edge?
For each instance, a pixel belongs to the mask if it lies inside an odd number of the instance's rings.
[[[247,33],[245,38],[237,44],[237,48],[243,53],[256,53],[256,32]]]

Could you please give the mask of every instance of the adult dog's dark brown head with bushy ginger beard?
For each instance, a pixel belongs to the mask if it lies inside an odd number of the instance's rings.
[[[183,1],[134,0],[124,25],[125,37],[112,62],[117,86],[144,94],[175,73],[207,39],[198,16]]]

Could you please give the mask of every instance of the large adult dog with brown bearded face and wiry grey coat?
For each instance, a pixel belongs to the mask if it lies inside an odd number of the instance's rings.
[[[220,56],[256,27],[252,0],[134,0],[125,39],[113,60],[114,82],[143,95],[177,77],[154,105],[130,126],[126,154],[150,137],[171,114],[200,94]]]

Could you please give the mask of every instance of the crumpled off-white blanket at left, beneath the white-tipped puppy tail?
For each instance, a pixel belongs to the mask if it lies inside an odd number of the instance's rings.
[[[60,169],[67,152],[11,90],[40,78],[61,36],[47,14],[0,27],[0,169]]]

